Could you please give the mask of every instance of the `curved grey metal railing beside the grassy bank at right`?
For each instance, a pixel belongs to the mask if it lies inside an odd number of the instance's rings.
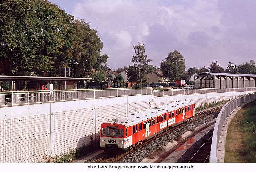
[[[216,120],[214,130],[213,130],[213,138],[212,138],[212,146],[211,146],[209,162],[217,162],[218,144],[220,142],[221,132],[222,132],[223,126],[226,122],[228,115],[230,115],[231,112],[239,105],[241,105],[247,101],[252,101],[255,99],[256,99],[256,92],[249,93],[249,94],[238,96],[238,97],[228,101],[222,107],[222,109],[218,115],[218,118]]]

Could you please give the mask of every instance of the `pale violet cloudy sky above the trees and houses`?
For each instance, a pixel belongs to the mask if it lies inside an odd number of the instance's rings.
[[[132,65],[133,46],[157,68],[180,51],[186,70],[217,61],[227,68],[256,61],[256,0],[49,0],[95,28],[107,65]]]

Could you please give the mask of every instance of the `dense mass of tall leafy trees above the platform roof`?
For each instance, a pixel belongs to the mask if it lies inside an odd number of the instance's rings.
[[[6,75],[59,76],[60,67],[73,73],[78,62],[76,77],[87,77],[108,60],[97,30],[47,0],[1,1],[0,12],[0,66]]]

